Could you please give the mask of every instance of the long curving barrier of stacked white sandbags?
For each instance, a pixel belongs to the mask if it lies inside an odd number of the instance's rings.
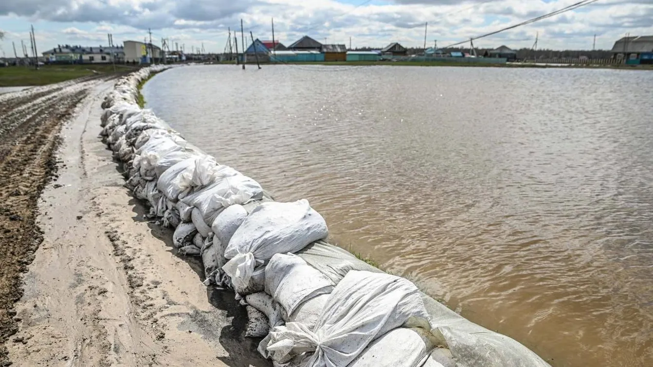
[[[549,366],[515,340],[471,323],[404,278],[325,242],[305,199],[279,203],[136,104],[121,78],[103,102],[103,141],[125,186],[174,228],[180,254],[199,256],[204,284],[230,287],[249,316],[246,336],[276,366]]]

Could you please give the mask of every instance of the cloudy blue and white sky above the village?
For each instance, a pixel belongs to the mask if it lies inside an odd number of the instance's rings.
[[[39,53],[57,44],[105,46],[144,40],[151,29],[153,43],[168,38],[186,52],[204,45],[223,52],[228,29],[244,30],[254,38],[275,38],[286,46],[302,35],[319,42],[381,48],[390,42],[407,47],[447,46],[507,25],[546,14],[579,0],[1,0],[0,57],[12,57],[12,41],[27,42],[34,25]],[[653,35],[653,0],[599,0],[541,22],[476,40],[475,46],[533,46],[553,50],[611,49],[630,35]],[[240,35],[239,38],[240,40]],[[249,44],[251,42],[247,42]],[[239,44],[240,47],[240,44]],[[174,46],[172,47],[174,48]]]

